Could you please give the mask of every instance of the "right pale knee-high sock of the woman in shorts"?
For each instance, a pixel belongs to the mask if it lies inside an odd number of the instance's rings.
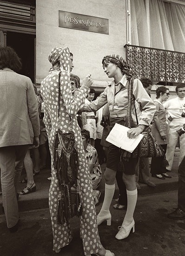
[[[127,190],[126,189],[126,194],[127,194],[127,210],[126,210],[126,216],[124,218],[123,224],[122,225],[129,225],[132,220],[133,220],[133,213],[136,207],[136,202],[137,202],[137,197],[138,197],[138,190]]]

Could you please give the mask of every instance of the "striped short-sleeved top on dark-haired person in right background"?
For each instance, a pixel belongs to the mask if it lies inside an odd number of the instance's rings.
[[[169,143],[169,132],[168,132],[169,128],[168,128],[168,123],[167,123],[167,120],[168,120],[167,119],[168,118],[167,111],[160,101],[154,100],[153,102],[156,102],[159,104],[159,112],[157,114],[158,114],[158,119],[159,119],[161,130],[166,135],[166,140],[165,141],[162,140],[161,135],[160,135],[154,121],[152,121],[152,135],[159,144],[168,144]]]

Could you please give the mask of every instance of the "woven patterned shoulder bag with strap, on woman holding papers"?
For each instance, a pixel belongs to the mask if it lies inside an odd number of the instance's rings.
[[[127,119],[128,119],[128,128],[131,128],[131,119],[132,119],[132,95],[133,95],[133,81],[134,77],[129,78],[130,82],[128,83],[128,110],[127,110]],[[135,109],[136,113],[136,109]],[[138,124],[138,117],[136,113],[136,120]],[[132,153],[122,150],[121,159],[127,160],[129,158],[136,158],[136,157],[159,157],[164,156],[165,152],[164,149],[158,144],[158,142],[153,137],[149,127],[145,127],[144,131],[142,132],[144,135],[142,140],[139,142],[139,145],[134,149]]]

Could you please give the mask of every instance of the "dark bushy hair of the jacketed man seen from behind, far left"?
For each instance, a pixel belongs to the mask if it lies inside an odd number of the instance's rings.
[[[10,68],[15,72],[19,72],[22,63],[12,47],[0,47],[0,69]]]

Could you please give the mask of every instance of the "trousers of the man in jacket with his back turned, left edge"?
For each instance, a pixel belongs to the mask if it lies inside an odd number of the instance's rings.
[[[0,148],[0,179],[8,228],[12,228],[19,220],[16,195],[28,147],[29,145],[19,145]]]

